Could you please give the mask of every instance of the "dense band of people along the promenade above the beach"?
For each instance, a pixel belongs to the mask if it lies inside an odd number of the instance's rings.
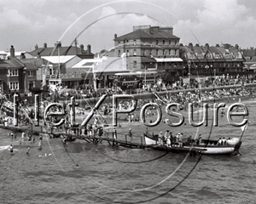
[[[180,77],[180,80],[177,82],[165,82],[163,79],[158,78],[155,82],[144,82],[138,83],[127,87],[120,87],[119,83],[113,83],[111,86],[108,85],[104,88],[94,88],[92,84],[83,84],[77,88],[74,88],[70,92],[70,88],[61,88],[58,87],[56,90],[49,89],[49,95],[55,96],[55,91],[58,92],[58,97],[68,98],[71,95],[75,96],[77,99],[92,98],[97,97],[102,94],[145,94],[145,93],[154,93],[160,91],[171,91],[171,90],[185,90],[189,88],[211,88],[211,87],[221,87],[228,85],[245,85],[247,83],[256,82],[256,75],[252,77],[247,76],[226,76],[221,77],[206,77],[204,79],[200,77],[190,78],[189,82],[184,82],[183,78]],[[60,91],[62,89],[63,91]],[[65,91],[68,89],[69,91]]]

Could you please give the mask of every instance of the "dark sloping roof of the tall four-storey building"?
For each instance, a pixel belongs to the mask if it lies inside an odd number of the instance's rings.
[[[123,40],[142,39],[142,38],[163,38],[163,39],[176,38],[176,39],[179,39],[179,37],[176,37],[167,31],[152,30],[149,34],[149,28],[148,28],[148,29],[140,29],[137,31],[132,31],[128,34],[125,34],[124,36],[116,37],[113,40],[114,41],[123,41]]]

